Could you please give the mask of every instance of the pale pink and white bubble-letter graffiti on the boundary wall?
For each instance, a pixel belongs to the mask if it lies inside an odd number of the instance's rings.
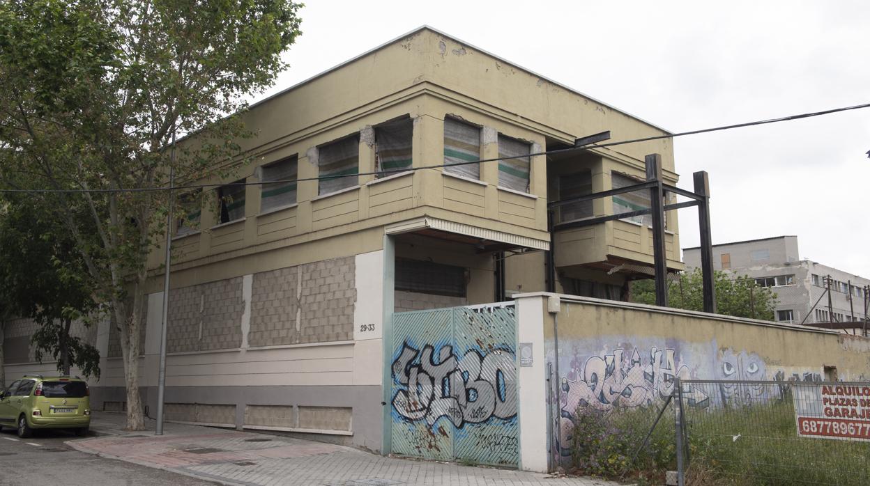
[[[671,395],[674,378],[689,377],[686,364],[675,360],[675,350],[655,346],[643,354],[637,348],[627,355],[617,349],[577,364],[579,360],[573,360],[562,379],[562,409],[568,414],[579,406],[599,410],[646,406]]]

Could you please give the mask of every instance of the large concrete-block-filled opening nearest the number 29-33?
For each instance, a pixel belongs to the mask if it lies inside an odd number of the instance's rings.
[[[249,345],[353,339],[355,271],[349,256],[254,274]]]

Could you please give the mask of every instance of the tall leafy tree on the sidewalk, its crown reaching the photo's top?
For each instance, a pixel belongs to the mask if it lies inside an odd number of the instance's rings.
[[[244,157],[244,95],[271,85],[299,34],[287,0],[0,3],[0,183],[45,194],[108,304],[124,361],[127,428],[147,255],[164,236],[171,170],[214,176]],[[226,116],[226,114],[232,114]],[[196,133],[166,147],[176,133]],[[25,180],[27,183],[15,183]],[[86,217],[83,217],[85,215]],[[130,303],[128,303],[128,300]]]

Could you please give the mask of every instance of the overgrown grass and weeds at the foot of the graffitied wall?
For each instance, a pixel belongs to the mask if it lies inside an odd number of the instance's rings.
[[[578,409],[569,446],[586,475],[664,483],[676,469],[673,405],[634,458],[658,409]],[[689,486],[870,484],[870,443],[797,435],[790,399],[739,409],[686,408]]]

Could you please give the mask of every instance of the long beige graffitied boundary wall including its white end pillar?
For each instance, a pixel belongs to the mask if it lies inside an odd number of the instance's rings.
[[[541,447],[546,428],[540,425],[547,420],[546,392],[539,380],[545,383],[548,364],[558,366],[563,443],[579,407],[652,406],[671,393],[676,376],[784,384],[870,378],[870,339],[860,336],[578,296],[516,298],[519,342],[532,343],[533,349],[532,367],[519,374],[522,469],[546,470],[547,448]],[[716,396],[699,397],[697,403],[740,406],[765,399],[761,387],[736,390],[722,386]]]

